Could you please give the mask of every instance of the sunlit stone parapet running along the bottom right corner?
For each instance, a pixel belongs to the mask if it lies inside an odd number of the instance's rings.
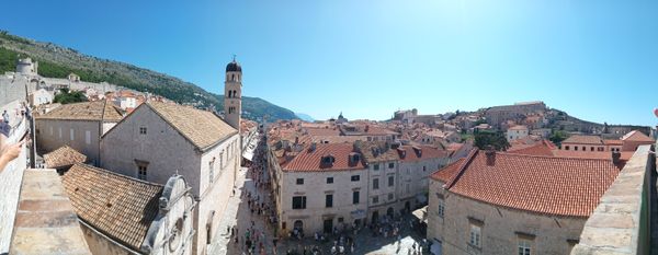
[[[656,154],[642,146],[587,220],[571,255],[649,254]]]

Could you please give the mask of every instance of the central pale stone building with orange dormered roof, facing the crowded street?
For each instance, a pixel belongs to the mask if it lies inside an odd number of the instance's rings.
[[[350,143],[311,143],[294,151],[298,154],[277,173],[282,233],[330,233],[364,223],[367,178],[361,153]]]

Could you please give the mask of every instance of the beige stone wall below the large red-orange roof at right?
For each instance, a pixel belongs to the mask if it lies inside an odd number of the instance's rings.
[[[431,181],[428,240],[440,242],[443,254],[518,254],[520,239],[532,240],[532,254],[568,254],[586,218],[558,217],[481,202],[450,192]],[[443,197],[443,198],[441,198]],[[444,217],[438,213],[445,202]],[[472,219],[481,221],[481,245],[469,244]]]

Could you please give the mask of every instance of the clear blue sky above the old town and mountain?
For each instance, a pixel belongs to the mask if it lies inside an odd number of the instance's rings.
[[[10,1],[0,28],[315,118],[385,119],[543,100],[656,125],[658,1]]]

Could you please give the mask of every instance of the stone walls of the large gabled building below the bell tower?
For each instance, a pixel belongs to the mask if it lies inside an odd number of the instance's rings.
[[[146,128],[141,134],[140,128]],[[195,210],[195,253],[205,254],[234,187],[240,163],[240,137],[234,134],[200,151],[150,107],[143,105],[103,136],[102,166],[139,177],[146,166],[148,182],[164,184],[180,174],[198,201]],[[209,236],[208,236],[209,235]]]

